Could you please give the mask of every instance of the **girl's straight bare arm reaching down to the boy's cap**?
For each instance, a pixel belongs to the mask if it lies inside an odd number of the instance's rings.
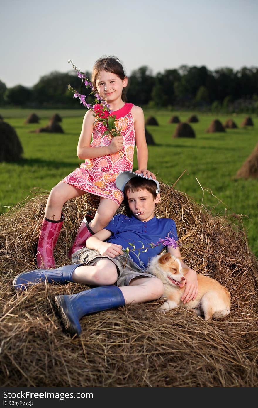
[[[135,127],[135,144],[137,151],[138,170],[135,173],[143,174],[144,176],[152,177],[156,180],[156,176],[147,170],[148,163],[148,146],[146,143],[146,136],[144,130],[144,115],[140,106],[132,106],[132,118]]]

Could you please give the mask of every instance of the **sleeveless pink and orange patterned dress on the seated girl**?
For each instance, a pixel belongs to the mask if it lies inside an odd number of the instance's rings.
[[[133,155],[135,150],[135,129],[132,118],[133,104],[126,103],[123,108],[113,111],[116,116],[115,124],[121,129],[123,136],[123,149],[110,155],[86,159],[78,169],[66,176],[64,183],[71,184],[80,190],[109,198],[119,206],[123,201],[123,193],[117,188],[115,179],[121,171],[132,171]],[[106,127],[97,119],[93,125],[91,147],[108,146],[112,136],[105,135]]]

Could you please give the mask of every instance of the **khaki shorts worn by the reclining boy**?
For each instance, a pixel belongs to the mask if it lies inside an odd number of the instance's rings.
[[[150,273],[141,270],[127,255],[118,255],[115,258],[110,258],[107,255],[101,255],[99,251],[89,248],[82,248],[75,252],[72,256],[72,263],[93,266],[99,259],[110,259],[115,264],[118,275],[117,286],[129,286],[131,280],[136,277],[154,277]]]

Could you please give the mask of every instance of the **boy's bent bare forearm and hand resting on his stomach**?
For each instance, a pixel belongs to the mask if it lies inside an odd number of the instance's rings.
[[[112,244],[111,242],[104,242],[109,237],[111,237],[111,232],[104,228],[103,230],[89,237],[86,241],[86,246],[87,248],[99,251],[101,255],[108,255],[110,258],[115,258],[117,255],[123,255],[121,245]]]

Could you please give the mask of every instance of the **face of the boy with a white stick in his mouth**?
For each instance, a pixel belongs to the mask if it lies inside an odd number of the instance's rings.
[[[160,195],[154,199],[153,195],[146,189],[127,191],[127,199],[130,210],[140,221],[149,221],[154,217],[155,204],[160,200]]]

